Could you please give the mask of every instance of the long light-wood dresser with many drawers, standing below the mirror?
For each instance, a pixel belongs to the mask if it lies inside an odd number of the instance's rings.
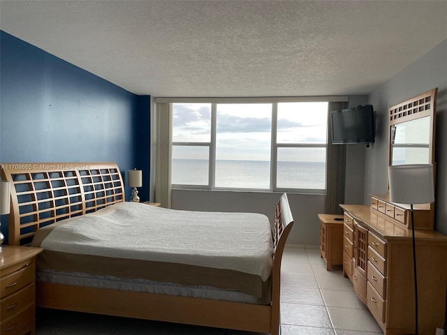
[[[343,272],[383,332],[414,334],[415,295],[411,230],[366,205],[344,209]],[[447,236],[416,230],[420,334],[444,327]]]

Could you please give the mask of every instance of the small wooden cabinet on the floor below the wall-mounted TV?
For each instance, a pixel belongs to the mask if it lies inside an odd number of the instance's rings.
[[[343,216],[318,214],[320,219],[320,253],[326,262],[326,270],[332,265],[343,264]]]

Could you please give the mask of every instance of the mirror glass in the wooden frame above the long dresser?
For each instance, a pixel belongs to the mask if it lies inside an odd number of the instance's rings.
[[[391,126],[391,165],[430,162],[430,117]]]

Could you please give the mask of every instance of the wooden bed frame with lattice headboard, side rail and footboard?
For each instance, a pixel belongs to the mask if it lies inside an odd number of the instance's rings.
[[[38,228],[124,201],[122,175],[115,163],[4,163],[1,179],[13,184],[10,245],[29,245]],[[281,258],[292,226],[284,193],[277,204],[272,231],[270,305],[43,282],[36,283],[36,305],[277,335]]]

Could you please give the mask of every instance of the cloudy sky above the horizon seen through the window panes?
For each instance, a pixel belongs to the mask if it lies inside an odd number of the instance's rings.
[[[173,142],[210,142],[211,104],[173,104]],[[325,144],[328,103],[278,103],[277,142]],[[217,160],[270,161],[272,104],[217,104]],[[207,159],[207,147],[174,147],[174,158]],[[324,161],[325,150],[281,148],[285,161]]]

